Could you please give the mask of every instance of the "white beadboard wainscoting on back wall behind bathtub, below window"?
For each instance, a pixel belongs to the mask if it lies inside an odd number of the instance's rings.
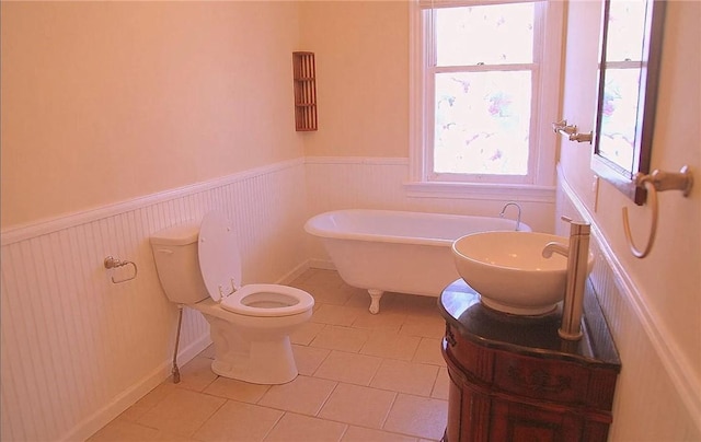
[[[310,216],[340,209],[386,209],[498,217],[505,202],[517,201],[521,220],[535,231],[554,229],[554,186],[521,194],[513,187],[494,186],[417,193],[416,184],[409,183],[406,158],[307,156],[304,162]],[[515,219],[516,213],[506,216]],[[332,268],[318,239],[311,239],[308,247],[312,266]]]

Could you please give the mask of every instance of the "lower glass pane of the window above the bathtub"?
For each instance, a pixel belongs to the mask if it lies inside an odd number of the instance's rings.
[[[530,71],[436,74],[434,172],[526,175]]]

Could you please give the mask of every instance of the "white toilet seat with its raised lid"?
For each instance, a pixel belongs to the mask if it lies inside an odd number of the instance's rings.
[[[204,216],[197,255],[207,292],[223,310],[246,316],[274,317],[303,313],[314,305],[314,299],[309,293],[292,287],[241,287],[239,247],[229,220],[220,212],[210,211]]]

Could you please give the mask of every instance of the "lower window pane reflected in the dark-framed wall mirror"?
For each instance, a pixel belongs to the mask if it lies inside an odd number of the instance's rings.
[[[640,69],[607,69],[598,153],[624,170],[633,164]]]

